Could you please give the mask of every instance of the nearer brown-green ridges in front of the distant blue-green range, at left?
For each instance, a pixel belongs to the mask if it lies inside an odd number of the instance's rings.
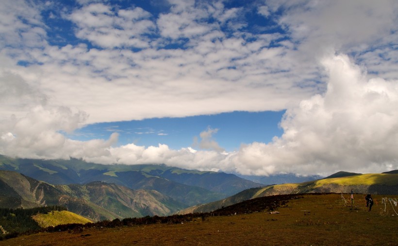
[[[169,215],[185,207],[153,190],[132,190],[105,182],[51,185],[17,172],[0,171],[0,208],[54,205],[93,221]]]

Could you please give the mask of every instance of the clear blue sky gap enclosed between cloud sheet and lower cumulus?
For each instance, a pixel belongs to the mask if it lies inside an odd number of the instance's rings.
[[[282,135],[279,122],[284,111],[232,112],[216,115],[190,116],[184,118],[151,118],[140,121],[95,123],[78,129],[71,139],[87,141],[93,138],[108,139],[119,133],[116,145],[135,143],[137,145],[167,144],[181,149],[197,145],[199,134],[216,129],[214,139],[226,151],[235,151],[241,144],[253,141],[271,142]]]

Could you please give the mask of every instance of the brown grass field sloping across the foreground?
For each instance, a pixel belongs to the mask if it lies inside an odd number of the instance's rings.
[[[345,199],[349,198],[344,194]],[[373,195],[372,211],[365,195],[354,194],[355,204],[344,205],[341,194],[304,194],[272,214],[260,211],[210,216],[182,224],[154,224],[83,231],[41,232],[0,241],[0,246],[81,245],[398,245],[398,207]],[[393,210],[395,209],[395,211]]]

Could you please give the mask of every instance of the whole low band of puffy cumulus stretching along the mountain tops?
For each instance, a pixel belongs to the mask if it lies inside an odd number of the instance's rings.
[[[25,118],[2,125],[1,152],[19,157],[83,158],[106,164],[166,163],[246,175],[397,169],[397,81],[369,79],[347,55],[328,57],[322,64],[329,75],[327,91],[288,109],[280,123],[283,135],[270,143],[254,142],[236,152],[221,153],[223,149],[214,140],[218,129],[210,127],[197,141],[207,150],[199,151],[173,150],[165,144],[114,146],[116,133],[109,140],[71,141],[59,131],[76,129],[84,114],[37,107]]]

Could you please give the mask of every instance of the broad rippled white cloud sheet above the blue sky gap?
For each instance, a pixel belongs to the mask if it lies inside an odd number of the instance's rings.
[[[189,26],[180,30],[182,36],[196,36],[189,40],[189,49],[154,47],[132,52],[126,47],[135,46],[131,43],[134,38],[145,43],[139,47],[168,42],[159,37],[149,44],[145,34],[155,24],[148,19],[149,13],[138,7],[116,10],[102,3],[85,5],[68,18],[76,23],[78,37],[104,49],[68,44],[25,49],[24,53],[12,50],[18,54],[12,59],[14,63],[22,59],[40,65],[10,69],[45,95],[48,105],[67,105],[87,112],[87,123],[281,110],[317,90],[296,86],[300,77],[317,77],[316,68],[296,68],[295,57],[287,54],[287,47],[268,47],[281,34],[249,41],[239,32],[226,37],[217,23],[205,22],[205,18],[227,11],[222,4],[215,6],[198,9],[187,5],[169,13]],[[162,16],[166,15],[158,22]],[[233,18],[231,13],[228,16]],[[199,29],[192,29],[194,26]],[[160,33],[164,31],[160,25],[157,28]]]

